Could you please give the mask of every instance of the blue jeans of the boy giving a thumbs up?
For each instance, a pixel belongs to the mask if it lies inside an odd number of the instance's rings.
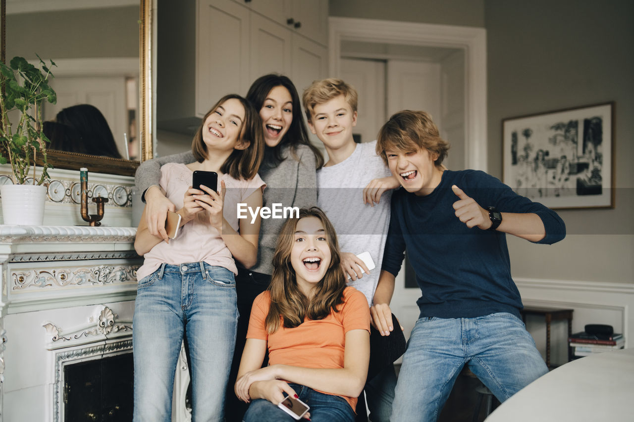
[[[465,364],[500,402],[548,372],[524,323],[512,314],[422,317],[403,355],[391,421],[436,421]]]

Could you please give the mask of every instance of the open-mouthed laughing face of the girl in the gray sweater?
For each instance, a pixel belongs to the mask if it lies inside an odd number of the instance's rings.
[[[273,148],[280,143],[293,122],[293,99],[283,86],[276,86],[266,95],[260,117],[264,125],[264,142]]]

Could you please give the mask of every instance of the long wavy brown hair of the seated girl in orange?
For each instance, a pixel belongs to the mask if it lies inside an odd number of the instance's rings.
[[[290,262],[295,229],[297,223],[305,217],[317,217],[321,221],[332,255],[326,274],[314,287],[315,294],[312,300],[309,300],[297,287],[295,270]],[[339,312],[337,306],[343,303],[346,288],[346,278],[340,264],[341,257],[335,227],[321,208],[301,208],[299,217],[288,219],[281,229],[273,256],[273,276],[268,288],[271,294],[271,306],[265,320],[269,334],[275,333],[280,328],[280,317],[286,328],[294,328],[304,322],[304,317],[313,320],[324,319],[330,312]]]

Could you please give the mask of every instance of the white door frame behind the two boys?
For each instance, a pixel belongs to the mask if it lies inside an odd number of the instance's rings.
[[[342,41],[459,48],[465,51],[465,168],[487,171],[486,30],[430,23],[330,17],[329,74],[340,75]]]

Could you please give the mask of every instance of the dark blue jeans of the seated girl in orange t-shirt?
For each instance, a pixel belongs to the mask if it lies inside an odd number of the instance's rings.
[[[312,422],[354,422],[353,408],[343,397],[316,392],[313,388],[303,385],[289,385],[299,395],[299,399],[310,407]],[[253,400],[242,420],[243,422],[295,421],[276,404],[264,399]]]

